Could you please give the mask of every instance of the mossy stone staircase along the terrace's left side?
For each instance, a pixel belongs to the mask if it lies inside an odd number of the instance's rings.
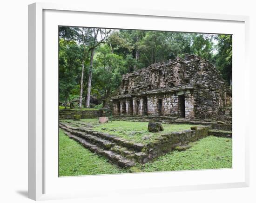
[[[69,138],[120,167],[132,167],[135,161],[140,161],[141,157],[146,156],[141,152],[144,147],[142,144],[132,143],[107,133],[95,132],[85,127],[71,127],[63,122],[59,124],[59,127]]]

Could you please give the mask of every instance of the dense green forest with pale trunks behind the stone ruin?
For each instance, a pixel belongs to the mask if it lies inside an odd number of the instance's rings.
[[[100,108],[123,74],[185,54],[209,60],[231,85],[231,35],[60,26],[60,105]]]

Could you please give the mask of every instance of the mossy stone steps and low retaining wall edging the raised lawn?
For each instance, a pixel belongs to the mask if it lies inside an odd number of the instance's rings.
[[[59,126],[69,138],[120,167],[132,167],[136,162],[144,164],[172,150],[186,149],[189,142],[208,136],[212,129],[211,126],[195,126],[190,130],[163,133],[148,144],[142,144],[96,131],[90,124],[79,121],[61,121]],[[210,134],[226,136],[230,133],[213,131]]]

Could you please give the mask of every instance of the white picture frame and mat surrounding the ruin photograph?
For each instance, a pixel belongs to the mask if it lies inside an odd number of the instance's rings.
[[[61,17],[61,18],[59,18]],[[84,23],[81,18],[94,20]],[[62,20],[62,22],[60,21]],[[100,19],[97,21],[97,19]],[[109,19],[113,24],[104,24]],[[114,20],[115,19],[115,20]],[[128,25],[128,19],[130,24]],[[148,23],[150,20],[150,23]],[[175,22],[177,21],[177,22]],[[152,23],[154,22],[154,23]],[[160,23],[159,23],[160,22]],[[56,73],[58,32],[56,25],[98,26],[162,30],[161,22],[173,22],[164,30],[233,34],[233,168],[203,171],[173,171],[121,175],[59,178],[56,176],[56,129],[58,126]],[[189,22],[189,23],[188,23]],[[64,24],[63,24],[64,23]],[[115,23],[115,25],[114,25]],[[141,24],[140,24],[141,23]],[[143,25],[142,25],[143,23]],[[179,24],[179,25],[178,25]],[[183,24],[183,27],[181,26]],[[166,24],[165,24],[166,25]],[[186,25],[186,26],[184,26]],[[198,27],[193,27],[198,25]],[[132,26],[132,27],[131,27]],[[179,27],[180,26],[180,27]],[[201,27],[202,26],[202,27]],[[215,28],[218,27],[218,28]],[[170,30],[171,29],[171,30]],[[210,32],[216,29],[216,32]],[[223,32],[221,32],[223,31]],[[55,33],[55,35],[54,35]],[[50,44],[50,45],[49,45]],[[249,17],[210,13],[188,13],[121,8],[105,10],[86,5],[34,3],[28,6],[28,197],[34,200],[97,197],[116,193],[205,190],[249,186]],[[50,64],[50,65],[49,65]],[[243,71],[236,67],[243,65]],[[48,67],[51,67],[49,69]],[[53,72],[51,72],[53,71]],[[241,79],[238,81],[238,77]],[[57,92],[56,92],[57,91]],[[235,94],[234,94],[235,93]],[[48,98],[53,98],[52,103]],[[241,108],[243,105],[243,109]],[[53,132],[53,133],[52,133]],[[55,133],[54,133],[55,132]],[[49,134],[54,134],[49,136]],[[239,135],[239,136],[238,136]],[[53,140],[51,140],[53,139]],[[183,178],[181,178],[183,177]],[[201,179],[200,179],[201,177]],[[81,183],[86,180],[90,187]],[[111,187],[103,190],[107,181]],[[165,181],[162,181],[165,180]],[[134,181],[138,184],[133,186]],[[115,186],[115,183],[126,183]],[[177,184],[177,183],[180,184]],[[109,182],[108,182],[109,183]],[[68,187],[72,186],[72,187]],[[74,185],[77,185],[75,187]],[[102,187],[101,187],[102,185]],[[67,186],[67,190],[65,190]],[[60,188],[60,190],[57,190]],[[97,190],[96,190],[97,189]]]

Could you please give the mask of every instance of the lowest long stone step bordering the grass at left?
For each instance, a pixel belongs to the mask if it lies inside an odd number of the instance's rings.
[[[84,138],[81,138],[77,135],[74,135],[70,132],[66,132],[68,137],[79,142],[82,146],[89,149],[91,152],[95,152],[97,154],[100,154],[101,156],[106,157],[109,161],[115,163],[116,165],[120,167],[132,167],[135,165],[135,162],[124,158],[122,155],[117,154],[115,152],[112,152],[110,150],[105,150],[104,148],[101,148],[100,146],[94,145],[91,142],[88,142]]]

